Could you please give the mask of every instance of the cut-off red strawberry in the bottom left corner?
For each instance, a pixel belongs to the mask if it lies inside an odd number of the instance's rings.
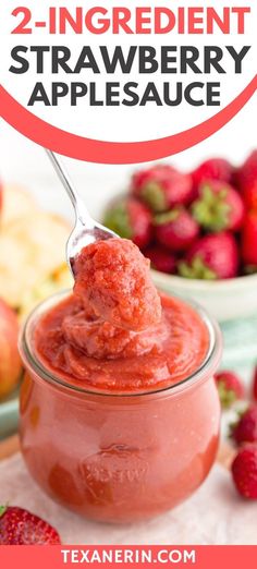
[[[48,522],[23,508],[0,507],[0,545],[58,545],[60,536]]]

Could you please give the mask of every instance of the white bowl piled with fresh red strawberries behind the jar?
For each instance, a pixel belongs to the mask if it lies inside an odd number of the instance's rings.
[[[257,313],[257,150],[238,167],[211,158],[192,172],[136,171],[103,223],[139,246],[159,288],[220,322]]]

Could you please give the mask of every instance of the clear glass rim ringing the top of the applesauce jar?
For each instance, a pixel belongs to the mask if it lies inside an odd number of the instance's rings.
[[[163,291],[164,294],[169,296],[169,294]],[[37,316],[40,316],[44,314],[47,310],[49,310],[51,306],[53,306],[58,301],[64,300],[68,295],[71,294],[71,290],[66,289],[61,292],[58,292],[56,294],[52,294],[48,299],[45,299],[42,302],[37,304],[37,306],[30,312],[28,317],[26,318],[24,326],[22,327],[21,334],[20,334],[20,341],[19,341],[19,348],[20,352],[23,359],[25,359],[28,366],[44,380],[46,380],[48,384],[51,384],[52,386],[56,386],[57,388],[65,389],[72,394],[81,394],[81,395],[90,395],[90,396],[97,396],[97,397],[105,397],[105,398],[124,398],[124,399],[131,399],[131,398],[138,398],[138,397],[147,397],[147,396],[154,396],[154,395],[160,395],[160,394],[169,394],[169,392],[179,392],[181,390],[184,390],[186,387],[189,387],[196,383],[198,383],[200,379],[203,379],[204,372],[207,372],[208,368],[210,368],[210,373],[215,372],[216,367],[219,364],[220,356],[221,356],[221,347],[222,347],[222,339],[221,339],[221,331],[219,328],[219,325],[217,324],[216,319],[212,318],[207,312],[195,301],[192,300],[184,300],[178,294],[172,294],[174,298],[180,298],[185,304],[188,304],[189,306],[193,306],[197,314],[201,317],[201,319],[205,322],[207,330],[209,332],[209,348],[208,351],[200,363],[199,367],[185,377],[183,380],[179,380],[178,383],[174,383],[172,385],[166,385],[166,387],[155,388],[155,389],[146,389],[143,391],[132,391],[132,392],[125,392],[125,391],[103,391],[98,390],[96,388],[88,389],[74,385],[69,384],[65,382],[64,378],[62,378],[58,374],[53,374],[50,372],[47,367],[44,366],[41,361],[35,355],[35,353],[32,352],[29,349],[29,339],[28,334],[30,326],[35,318]]]

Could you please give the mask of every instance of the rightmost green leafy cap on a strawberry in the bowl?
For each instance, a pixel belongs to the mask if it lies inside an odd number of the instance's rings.
[[[225,202],[227,190],[213,193],[211,186],[201,189],[201,198],[192,206],[192,213],[196,221],[209,231],[219,232],[229,226],[230,205]]]

